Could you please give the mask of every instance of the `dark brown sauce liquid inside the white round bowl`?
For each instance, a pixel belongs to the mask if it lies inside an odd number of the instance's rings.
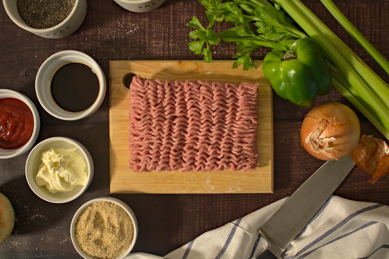
[[[96,101],[100,91],[98,77],[89,66],[69,63],[55,72],[51,80],[51,96],[68,112],[82,112]]]

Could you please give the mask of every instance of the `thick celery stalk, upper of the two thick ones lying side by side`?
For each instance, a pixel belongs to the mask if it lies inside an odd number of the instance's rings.
[[[282,3],[291,4],[290,0],[277,0]],[[280,4],[281,5],[281,4]],[[282,6],[282,5],[281,5]],[[300,0],[293,1],[292,7],[294,10],[300,11],[302,16],[312,23],[319,34],[326,38],[327,42],[331,42],[338,50],[344,59],[352,66],[352,68],[363,78],[370,87],[373,93],[377,96],[381,103],[389,112],[389,87],[366,63],[360,59],[335,33],[333,33],[311,10],[308,9]],[[287,11],[288,12],[288,11]],[[289,13],[289,12],[288,12]],[[289,15],[291,15],[289,13]],[[301,21],[301,20],[300,20]],[[296,21],[298,22],[298,21]],[[299,22],[298,22],[299,23]],[[299,23],[300,24],[300,23]],[[302,26],[303,24],[300,24]],[[308,32],[307,32],[308,33]],[[309,34],[309,33],[308,33]],[[312,38],[312,37],[311,37]],[[326,53],[325,53],[326,54]],[[336,57],[336,56],[335,56]],[[334,58],[335,58],[334,57]]]

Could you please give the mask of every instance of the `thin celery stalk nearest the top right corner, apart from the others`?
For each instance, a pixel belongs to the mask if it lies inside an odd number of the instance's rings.
[[[367,53],[389,74],[389,61],[355,28],[331,0],[320,0],[333,17],[361,45]]]

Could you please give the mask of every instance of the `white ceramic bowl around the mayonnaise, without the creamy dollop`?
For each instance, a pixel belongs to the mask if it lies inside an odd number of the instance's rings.
[[[42,152],[45,152],[52,147],[61,147],[66,149],[77,147],[75,152],[79,154],[86,163],[86,172],[88,172],[88,179],[86,180],[86,184],[84,186],[78,185],[72,191],[67,193],[51,193],[49,190],[47,190],[46,186],[37,185],[35,182],[35,177],[38,174],[39,166],[42,164],[40,156]],[[92,182],[94,166],[91,154],[89,154],[89,151],[80,142],[71,138],[53,137],[39,142],[32,149],[27,157],[25,170],[28,185],[35,194],[37,194],[45,201],[52,203],[65,203],[79,197],[82,193],[84,193],[84,191],[86,191],[86,189],[88,189]]]

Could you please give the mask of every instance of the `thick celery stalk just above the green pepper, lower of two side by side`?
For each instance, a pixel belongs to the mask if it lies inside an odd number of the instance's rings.
[[[279,5],[296,21],[301,28],[314,40],[317,46],[321,47],[323,53],[328,56],[337,68],[339,68],[348,80],[350,85],[354,87],[357,94],[366,102],[367,108],[377,114],[378,119],[382,125],[389,130],[389,112],[388,109],[381,103],[380,99],[366,85],[364,80],[357,74],[347,60],[339,53],[338,49],[331,44],[329,39],[321,30],[317,28],[317,17],[310,10],[300,2],[300,0],[277,0]],[[305,9],[302,8],[305,7]],[[316,23],[316,26],[314,25]],[[387,96],[380,96],[383,99],[388,99]],[[385,100],[384,100],[385,101]],[[385,103],[385,102],[384,102]],[[389,100],[386,100],[389,107]]]

